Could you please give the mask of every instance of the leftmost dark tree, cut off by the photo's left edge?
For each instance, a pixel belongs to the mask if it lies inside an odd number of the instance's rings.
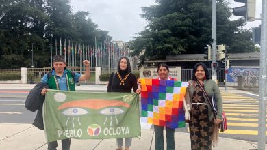
[[[3,1],[0,19],[0,59],[3,63],[0,67],[30,66],[26,58],[31,58],[27,57],[31,43],[44,46],[42,36],[47,18],[34,2]]]

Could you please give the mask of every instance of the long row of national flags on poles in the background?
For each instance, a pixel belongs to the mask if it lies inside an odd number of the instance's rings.
[[[119,46],[107,37],[104,41],[100,37],[98,39],[95,37],[94,45],[81,44],[66,39],[62,42],[61,38],[60,42],[58,42],[55,39],[55,52],[52,49],[52,38],[50,42],[51,58],[53,53],[55,55],[64,55],[65,61],[70,67],[83,67],[82,61],[86,59],[90,61],[90,67],[114,68],[120,57],[129,57],[129,49],[125,48],[125,46]]]

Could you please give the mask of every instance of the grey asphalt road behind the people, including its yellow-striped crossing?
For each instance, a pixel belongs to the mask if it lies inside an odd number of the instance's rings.
[[[105,92],[97,90],[98,92]],[[0,123],[32,123],[36,112],[24,106],[29,90],[0,89]],[[221,137],[257,142],[257,94],[222,92],[228,130]],[[188,132],[188,127],[177,130]],[[266,141],[267,142],[267,141]]]

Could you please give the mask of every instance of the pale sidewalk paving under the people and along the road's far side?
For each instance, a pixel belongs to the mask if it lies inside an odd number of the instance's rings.
[[[0,84],[0,89],[31,89],[34,85],[21,85],[21,84]],[[106,85],[81,85],[77,87],[77,90],[86,91],[106,91]],[[247,91],[241,91],[227,87],[227,91],[224,91],[224,87],[220,87],[222,92],[231,93],[249,93]],[[138,150],[150,150],[155,149],[155,135],[153,130],[145,129],[142,127],[142,136],[139,138],[133,138],[131,149]],[[165,134],[165,133],[164,133]],[[166,136],[164,136],[166,138]],[[166,139],[164,139],[164,145],[166,147]],[[58,149],[61,149],[60,142],[58,142]],[[190,149],[190,136],[189,133],[175,132],[175,149]],[[38,130],[31,124],[12,124],[12,123],[0,123],[0,149],[20,149],[31,150],[46,149],[46,139],[44,131]],[[96,150],[109,150],[116,149],[115,139],[106,140],[76,140],[72,139],[71,149],[83,150],[83,149],[96,149]],[[257,149],[257,143],[247,142],[243,140],[233,140],[230,138],[220,138],[218,146],[214,149]],[[267,149],[267,145],[266,145]]]

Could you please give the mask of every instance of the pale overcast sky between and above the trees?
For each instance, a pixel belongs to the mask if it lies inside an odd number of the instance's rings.
[[[242,3],[229,0],[229,7],[237,7]],[[109,31],[113,40],[127,42],[135,33],[144,29],[147,21],[141,7],[155,5],[155,0],[71,0],[74,12],[88,11],[90,18],[101,30]],[[256,17],[261,12],[261,1],[257,0]],[[233,17],[233,19],[238,18]],[[260,21],[254,21],[246,25],[246,29],[259,26]]]

